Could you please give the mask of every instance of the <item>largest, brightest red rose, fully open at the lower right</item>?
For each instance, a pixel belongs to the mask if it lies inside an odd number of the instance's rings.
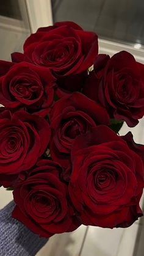
[[[110,128],[99,125],[77,137],[71,161],[69,194],[82,224],[128,227],[143,215],[142,158]]]

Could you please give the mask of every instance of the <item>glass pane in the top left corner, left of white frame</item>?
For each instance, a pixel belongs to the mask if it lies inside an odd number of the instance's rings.
[[[31,34],[24,0],[1,0],[0,4],[0,59],[11,60],[13,51],[22,51],[23,43]]]

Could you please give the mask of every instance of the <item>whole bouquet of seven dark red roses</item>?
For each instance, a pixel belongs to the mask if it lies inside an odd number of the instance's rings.
[[[13,218],[49,237],[81,224],[129,227],[142,216],[144,65],[98,54],[98,37],[65,21],[41,27],[0,61],[0,184]],[[93,68],[92,68],[93,65]]]

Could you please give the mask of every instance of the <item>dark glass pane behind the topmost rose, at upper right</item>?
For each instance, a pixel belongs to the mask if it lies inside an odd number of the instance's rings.
[[[51,0],[55,21],[72,20],[100,38],[144,45],[143,0]]]

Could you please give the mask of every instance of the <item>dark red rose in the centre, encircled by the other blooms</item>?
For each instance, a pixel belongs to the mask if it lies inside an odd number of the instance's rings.
[[[49,120],[51,157],[66,169],[70,169],[70,152],[75,137],[96,125],[109,125],[106,110],[79,92],[58,100],[49,113]]]

